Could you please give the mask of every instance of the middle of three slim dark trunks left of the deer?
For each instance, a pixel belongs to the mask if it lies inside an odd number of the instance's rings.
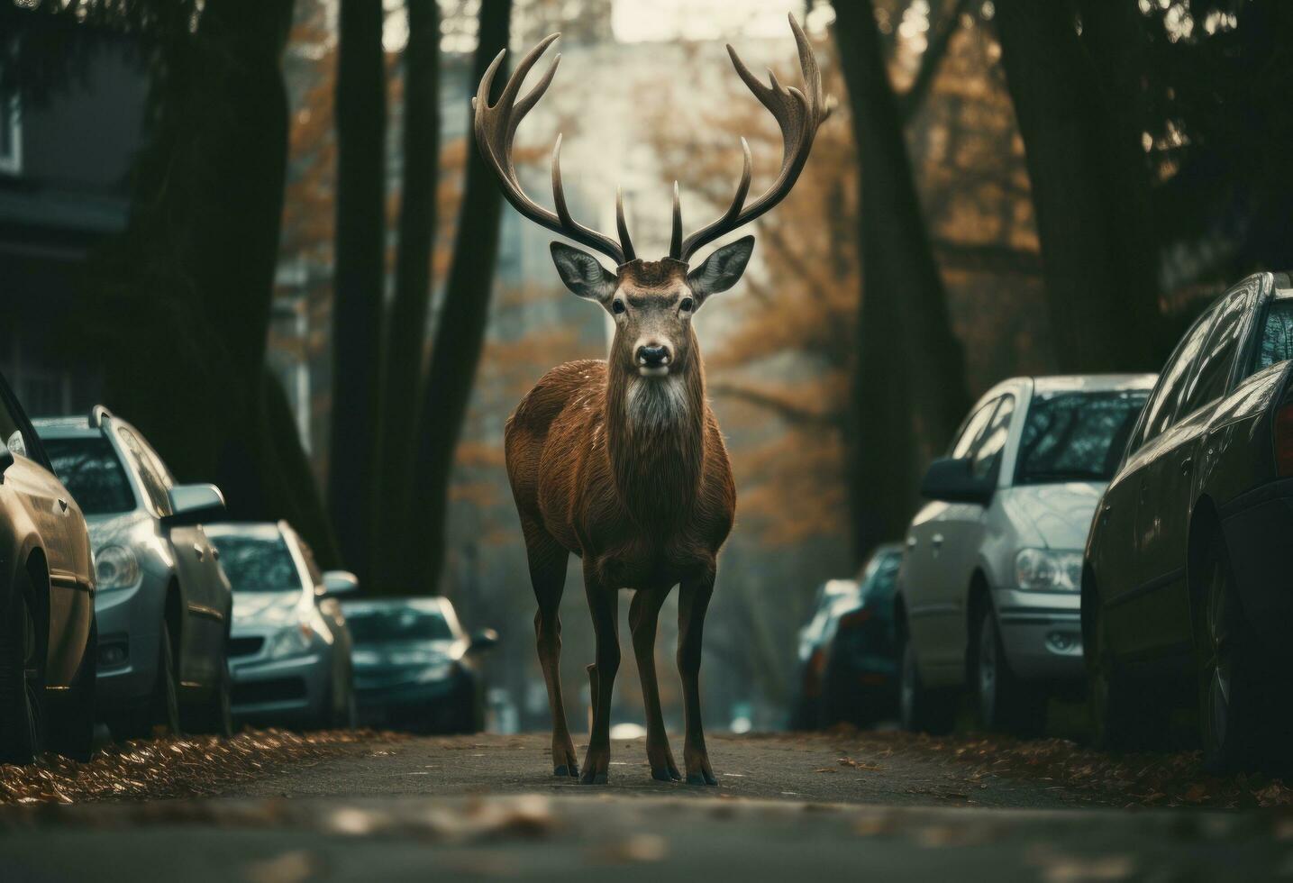
[[[403,50],[403,190],[396,292],[387,323],[381,419],[381,500],[375,588],[398,586],[390,546],[405,540],[414,428],[422,389],[423,345],[431,301],[440,173],[440,8],[436,0],[406,0],[409,43]]]

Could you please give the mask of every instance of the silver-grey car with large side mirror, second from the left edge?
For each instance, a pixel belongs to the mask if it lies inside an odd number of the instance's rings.
[[[138,429],[102,406],[34,421],[85,512],[98,575],[96,706],[114,738],[229,736],[233,593],[203,531],[215,485],[181,485]]]

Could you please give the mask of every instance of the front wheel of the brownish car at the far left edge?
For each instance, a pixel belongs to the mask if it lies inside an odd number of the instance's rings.
[[[26,764],[41,751],[45,641],[35,586],[19,571],[0,621],[0,763]]]

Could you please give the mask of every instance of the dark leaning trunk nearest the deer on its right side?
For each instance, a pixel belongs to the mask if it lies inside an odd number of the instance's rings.
[[[835,4],[861,173],[862,264],[848,452],[853,555],[901,537],[924,460],[965,414],[965,357],[930,250],[870,0]]]

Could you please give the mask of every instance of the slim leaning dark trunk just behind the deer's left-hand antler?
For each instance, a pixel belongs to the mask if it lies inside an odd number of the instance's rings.
[[[484,76],[494,56],[507,48],[511,14],[511,0],[482,0],[473,84]],[[495,89],[502,89],[506,79],[504,65],[494,78]],[[494,173],[475,145],[468,146],[467,156],[467,184],[458,239],[454,243],[453,266],[445,286],[445,303],[436,328],[418,424],[412,505],[407,517],[410,534],[400,544],[402,564],[407,565],[401,566],[400,571],[414,582],[416,590],[425,593],[438,590],[445,565],[449,484],[476,367],[485,344],[503,204]]]

